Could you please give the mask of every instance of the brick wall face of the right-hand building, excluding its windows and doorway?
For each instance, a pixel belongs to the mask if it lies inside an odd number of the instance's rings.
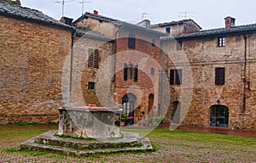
[[[165,42],[163,48],[171,59],[167,61],[167,71],[170,77],[171,69],[183,69],[183,84],[170,86],[171,101],[167,115],[171,121],[172,103],[181,101],[181,91],[190,89],[191,101],[181,102],[181,110],[185,113],[183,124],[193,126],[209,126],[210,108],[212,105],[221,104],[229,108],[230,128],[256,128],[255,110],[255,34],[247,38],[247,68],[244,72],[244,38],[238,36],[226,36],[226,46],[218,47],[218,37],[183,40],[183,48],[177,51],[177,42]],[[162,55],[163,56],[163,55]],[[181,59],[181,56],[185,56]],[[186,62],[187,59],[187,62]],[[224,85],[215,84],[215,68],[225,68]],[[193,81],[187,81],[185,75],[191,71]],[[189,74],[188,74],[189,75]],[[244,80],[246,88],[244,89]],[[244,93],[244,90],[246,93]],[[246,108],[243,109],[243,96],[246,96]],[[190,103],[187,104],[187,103]],[[183,104],[187,106],[184,107]],[[187,113],[186,113],[187,112]],[[169,116],[169,117],[168,117]],[[182,118],[182,116],[181,116]]]

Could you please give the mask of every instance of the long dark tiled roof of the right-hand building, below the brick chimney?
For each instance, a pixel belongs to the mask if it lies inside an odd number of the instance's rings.
[[[162,40],[172,40],[175,39],[193,39],[193,38],[200,38],[200,37],[213,37],[213,36],[224,36],[230,34],[244,34],[248,32],[256,32],[256,24],[252,25],[239,25],[235,26],[230,29],[226,28],[218,28],[212,30],[205,30],[205,31],[195,31],[194,33],[189,34],[182,34],[176,37],[163,37]]]

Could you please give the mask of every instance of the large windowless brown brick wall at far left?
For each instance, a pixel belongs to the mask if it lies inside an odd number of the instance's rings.
[[[0,16],[0,122],[58,120],[71,31]]]

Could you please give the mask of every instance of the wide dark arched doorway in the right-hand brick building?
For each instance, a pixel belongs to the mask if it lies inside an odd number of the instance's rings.
[[[221,104],[212,105],[210,108],[210,126],[228,127],[229,108]]]

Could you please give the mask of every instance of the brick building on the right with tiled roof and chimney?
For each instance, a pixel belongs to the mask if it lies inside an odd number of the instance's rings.
[[[236,26],[231,17],[225,28],[162,38],[167,53],[161,57],[170,79],[169,121],[176,111],[172,122],[255,130],[255,39],[256,25]],[[190,101],[181,95],[188,90]]]

